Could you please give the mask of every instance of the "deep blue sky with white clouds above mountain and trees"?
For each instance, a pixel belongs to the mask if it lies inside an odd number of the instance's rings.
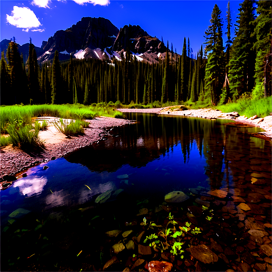
[[[231,0],[233,25],[242,1]],[[226,32],[228,1],[183,0],[183,1],[119,1],[119,0],[68,0],[68,1],[0,1],[0,40],[13,36],[20,45],[29,42],[41,46],[57,30],[69,28],[82,17],[104,17],[118,29],[124,25],[140,25],[151,36],[169,41],[177,53],[182,53],[184,36],[190,39],[193,53],[205,42],[204,31],[210,25],[211,12],[217,4],[223,18],[223,33]],[[234,29],[234,28],[233,28]],[[234,31],[232,29],[232,37]],[[226,35],[223,35],[226,41]],[[203,45],[204,49],[205,45]],[[81,49],[81,48],[79,48]]]

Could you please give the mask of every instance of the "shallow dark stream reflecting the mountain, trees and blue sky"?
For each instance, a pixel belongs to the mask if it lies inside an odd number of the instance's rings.
[[[137,250],[135,239],[141,234],[143,218],[163,222],[171,210],[178,216],[180,209],[199,206],[196,198],[218,205],[214,214],[218,220],[229,219],[230,213],[238,220],[236,225],[242,222],[245,226],[249,218],[271,224],[271,141],[250,135],[262,131],[260,128],[229,120],[126,115],[137,123],[114,128],[111,136],[97,144],[30,168],[27,177],[0,192],[2,271],[95,271],[114,255],[119,266],[109,267],[110,271],[126,267],[144,271],[144,262],[134,267],[133,253],[146,262],[160,256]],[[213,199],[206,194],[213,189],[227,192],[226,198]],[[172,191],[184,192],[189,200],[170,206],[164,196]],[[106,199],[95,202],[104,192],[108,192]],[[238,209],[240,202],[234,197],[253,204],[251,210]],[[230,226],[219,229],[233,235]],[[135,242],[134,250],[126,248],[126,254],[112,252],[111,246],[118,238],[105,236],[111,230],[133,230],[131,236],[135,238],[127,239]],[[206,237],[212,235],[207,235],[210,231],[203,225]],[[265,231],[265,237],[271,237],[271,228]],[[243,248],[241,254],[249,252]],[[240,257],[233,252],[235,258]],[[224,256],[236,260],[226,253]],[[261,257],[263,264],[265,256]],[[169,256],[168,261],[176,269],[185,266]],[[249,265],[256,263],[254,260]],[[224,269],[227,267],[233,266],[226,264]],[[219,271],[218,266],[209,269]]]

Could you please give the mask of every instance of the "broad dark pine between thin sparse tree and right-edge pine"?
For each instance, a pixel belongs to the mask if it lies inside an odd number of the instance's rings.
[[[233,99],[244,92],[251,92],[254,87],[254,66],[256,53],[253,49],[255,38],[253,1],[244,1],[239,4],[238,31],[230,51],[229,81],[230,93]]]

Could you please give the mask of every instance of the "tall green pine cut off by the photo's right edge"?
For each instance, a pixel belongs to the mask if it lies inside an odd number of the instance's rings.
[[[255,75],[256,85],[253,97],[271,95],[271,2],[258,1],[254,35],[257,41],[253,49],[257,51]]]

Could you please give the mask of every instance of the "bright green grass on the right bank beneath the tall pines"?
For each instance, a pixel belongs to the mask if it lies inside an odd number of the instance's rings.
[[[222,112],[237,111],[238,114],[251,117],[258,115],[258,117],[268,116],[271,112],[271,96],[259,99],[240,99],[236,102],[227,103],[222,106],[217,106],[217,109]]]

